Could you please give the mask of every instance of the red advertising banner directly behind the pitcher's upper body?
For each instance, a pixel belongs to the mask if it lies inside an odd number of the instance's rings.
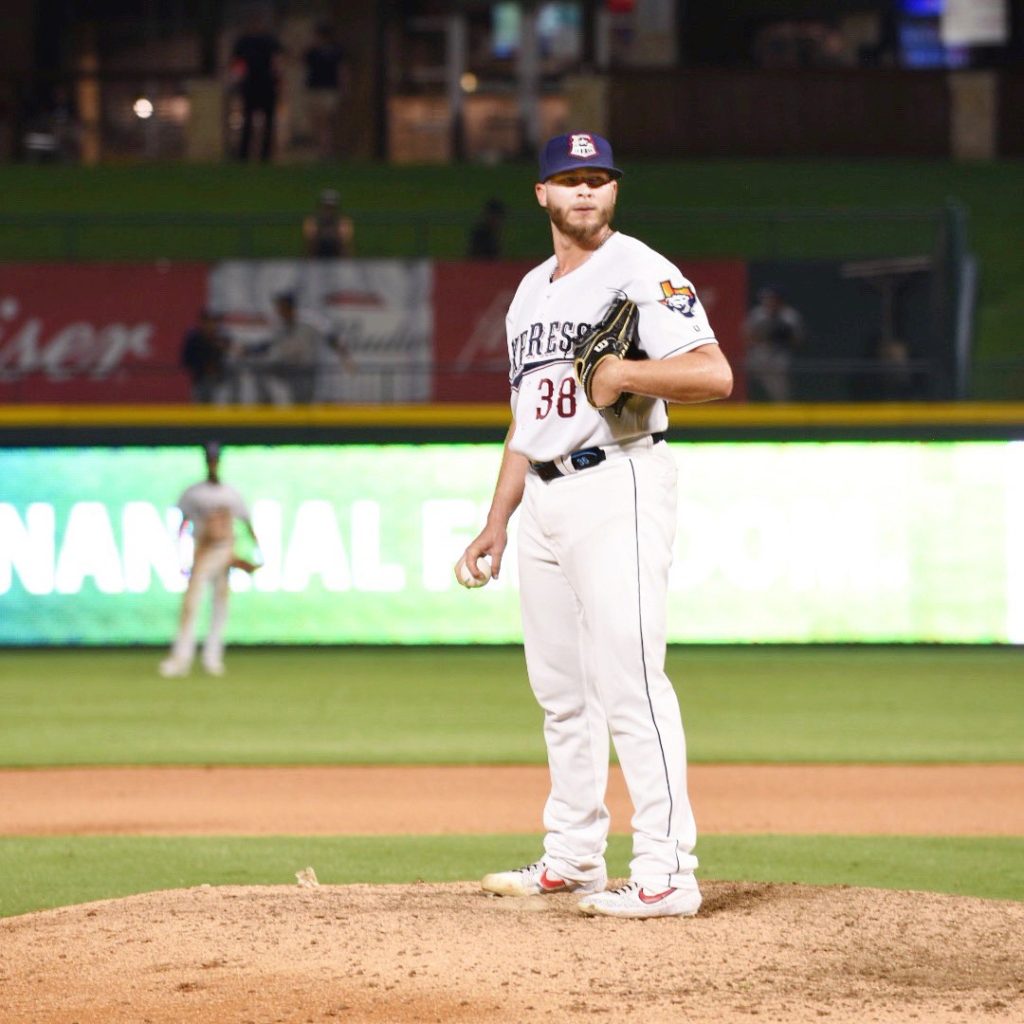
[[[746,264],[741,260],[677,260],[708,310],[732,364],[733,400],[746,396],[743,321]],[[434,264],[435,401],[508,401],[505,313],[532,262]]]

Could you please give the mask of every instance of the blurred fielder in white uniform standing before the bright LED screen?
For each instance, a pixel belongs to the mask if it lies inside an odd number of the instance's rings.
[[[233,568],[254,572],[259,567],[258,542],[245,499],[229,483],[220,480],[220,445],[211,441],[205,446],[206,479],[194,483],[178,499],[181,530],[189,524],[195,548],[188,587],[181,602],[178,633],[170,654],[160,663],[166,677],[186,676],[196,656],[196,613],[207,584],[213,589],[210,629],[203,644],[203,668],[211,676],[224,674],[224,627],[227,625],[228,571]],[[244,523],[253,545],[253,555],[236,552],[234,520]]]

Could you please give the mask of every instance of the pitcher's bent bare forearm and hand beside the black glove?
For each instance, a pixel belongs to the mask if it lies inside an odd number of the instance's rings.
[[[624,391],[666,401],[714,401],[732,393],[732,369],[712,342],[666,359],[604,359],[592,389],[598,406],[612,404]]]

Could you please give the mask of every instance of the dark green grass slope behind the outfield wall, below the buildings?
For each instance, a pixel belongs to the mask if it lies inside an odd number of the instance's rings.
[[[74,226],[73,245],[82,259],[220,259],[240,255],[240,246],[253,256],[299,255],[299,221],[319,188],[333,185],[356,221],[361,255],[459,257],[480,205],[500,196],[511,212],[508,255],[532,259],[550,245],[532,199],[534,174],[529,163],[12,165],[0,167],[0,249],[8,260],[59,259],[66,252],[65,227],[4,221],[4,214],[16,212],[129,218]],[[1024,163],[630,161],[618,224],[679,258],[916,255],[930,251],[934,227],[901,212],[939,212],[947,200],[967,209],[971,246],[980,260],[977,354],[1017,358],[1024,318],[1017,226],[1024,219]],[[786,219],[775,216],[779,211]],[[810,215],[814,211],[834,216],[819,219]],[[154,214],[163,215],[161,224],[130,221]],[[252,217],[270,219],[240,233],[238,219]],[[985,383],[979,397],[1015,396],[1006,375],[986,376]]]

